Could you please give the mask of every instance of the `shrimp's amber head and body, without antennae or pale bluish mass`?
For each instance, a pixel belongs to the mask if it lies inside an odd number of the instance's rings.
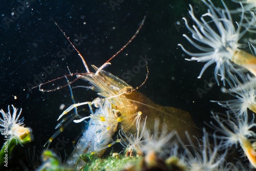
[[[99,71],[95,66],[93,68],[97,74],[89,73],[81,76],[81,79],[90,81],[92,90],[111,103],[113,115],[121,123],[119,129],[122,125],[125,132],[136,133],[135,118],[141,113],[141,122],[147,116],[147,127],[152,132],[154,122],[158,119],[160,124],[167,124],[169,132],[176,130],[182,139],[186,138],[185,131],[194,136],[199,134],[199,129],[188,112],[155,104],[118,77],[104,70]]]

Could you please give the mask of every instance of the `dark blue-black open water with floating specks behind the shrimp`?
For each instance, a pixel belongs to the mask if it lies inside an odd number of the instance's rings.
[[[31,127],[34,135],[33,142],[15,148],[13,158],[9,159],[8,169],[21,169],[24,164],[28,166],[25,154],[29,148],[32,151],[33,146],[36,146],[36,154],[39,155],[41,145],[55,132],[56,120],[62,112],[59,106],[65,104],[66,109],[72,104],[68,88],[50,93],[42,93],[36,88],[30,92],[28,84],[36,83],[35,76],[43,77],[41,72],[45,72],[44,67],[51,66],[53,61],[56,61],[57,67],[52,73],[44,75],[44,82],[69,74],[67,66],[72,73],[86,72],[75,51],[63,61],[57,57],[58,51],[67,48],[69,42],[51,17],[71,41],[76,38],[75,34],[86,37],[77,49],[88,65],[100,67],[126,44],[146,15],[140,33],[105,70],[127,81],[127,77],[123,76],[125,72],[138,66],[140,56],[146,56],[150,59],[149,75],[139,89],[145,96],[158,104],[188,111],[198,127],[205,126],[203,122],[208,122],[210,111],[225,111],[218,104],[209,101],[229,98],[220,92],[220,87],[212,79],[214,66],[208,68],[201,79],[197,79],[203,63],[184,60],[190,56],[177,46],[181,43],[188,50],[195,50],[182,37],[187,29],[183,27],[181,18],[187,16],[189,3],[198,9],[198,16],[205,13],[206,8],[200,1],[114,2],[118,5],[111,7],[110,1],[34,1],[24,9],[19,1],[1,1],[0,109],[7,111],[10,104],[22,108],[25,124]],[[7,24],[5,19],[11,18],[11,9],[24,11],[19,11],[19,16],[14,15],[15,19]],[[90,70],[93,71],[91,67]],[[133,87],[139,86],[144,81],[145,74],[146,69],[140,68],[140,72],[127,82]],[[212,88],[205,87],[212,81]],[[53,87],[56,88],[57,84],[65,82],[55,82]],[[75,83],[78,84],[88,85],[80,80]],[[199,89],[205,91],[201,96]],[[74,89],[73,93],[76,102],[92,101],[97,97],[95,92],[86,89]],[[71,142],[80,132],[81,125],[71,123],[50,147],[55,148],[62,156],[65,149],[69,155],[72,152]],[[2,139],[3,137],[0,139],[1,143]],[[65,143],[60,143],[60,140],[65,140]]]

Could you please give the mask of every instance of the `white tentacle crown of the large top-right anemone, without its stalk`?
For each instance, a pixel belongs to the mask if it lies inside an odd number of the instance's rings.
[[[182,50],[191,57],[186,60],[196,60],[198,62],[206,62],[202,68],[198,78],[201,78],[204,71],[212,64],[216,63],[215,78],[218,81],[218,75],[225,85],[226,74],[232,75],[231,71],[236,71],[232,57],[237,52],[241,45],[238,43],[239,39],[244,35],[246,30],[241,32],[240,24],[243,21],[244,13],[241,14],[240,23],[237,23],[237,28],[234,27],[232,17],[225,3],[222,1],[224,9],[219,9],[212,4],[210,0],[207,3],[203,0],[204,4],[208,7],[208,12],[203,14],[201,21],[195,16],[193,7],[189,5],[189,14],[196,25],[191,28],[188,25],[187,19],[185,21],[186,28],[192,33],[192,40],[187,35],[183,36],[197,49],[203,51],[202,53],[192,53],[187,51],[181,44],[179,46]],[[208,18],[208,19],[207,19]]]

